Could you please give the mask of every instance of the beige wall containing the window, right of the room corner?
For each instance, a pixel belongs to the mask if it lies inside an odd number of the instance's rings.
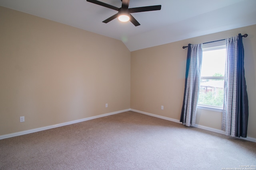
[[[256,25],[204,35],[131,53],[131,108],[180,119],[188,43],[197,44],[248,34],[243,38],[249,100],[248,137],[256,138]],[[164,110],[161,110],[161,105]],[[222,113],[198,109],[198,125],[221,129]]]

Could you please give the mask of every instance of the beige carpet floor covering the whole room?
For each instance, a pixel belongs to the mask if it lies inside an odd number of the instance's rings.
[[[1,170],[223,170],[248,165],[256,165],[256,143],[133,111],[0,140]]]

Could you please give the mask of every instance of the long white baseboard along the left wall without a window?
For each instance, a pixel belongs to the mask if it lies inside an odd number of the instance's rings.
[[[36,129],[30,129],[30,130],[27,130],[27,131],[21,131],[21,132],[16,132],[16,133],[10,133],[10,134],[7,134],[7,135],[1,135],[0,140],[10,138],[10,137],[16,137],[16,136],[20,136],[20,135],[26,135],[26,134],[29,134],[29,133],[44,131],[44,130],[52,129],[52,128],[56,128],[56,127],[71,125],[71,124],[74,124],[74,123],[79,123],[79,122],[82,122],[82,121],[88,121],[88,120],[91,120],[91,119],[96,119],[96,118],[104,117],[104,116],[108,116],[108,115],[114,115],[114,114],[117,114],[117,113],[122,113],[124,111],[130,111],[130,109],[114,111],[114,112],[111,112],[111,113],[105,113],[105,114],[102,114],[102,115],[87,117],[87,118],[84,118],[84,119],[68,121],[68,122],[59,123],[59,124],[56,124],[56,125],[50,125],[50,126],[40,127],[40,128],[36,128]]]

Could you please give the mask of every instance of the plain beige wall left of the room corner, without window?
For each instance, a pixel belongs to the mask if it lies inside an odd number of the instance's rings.
[[[129,108],[121,41],[0,7],[0,135]]]

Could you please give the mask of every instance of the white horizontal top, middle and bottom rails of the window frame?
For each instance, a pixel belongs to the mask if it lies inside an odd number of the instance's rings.
[[[218,50],[218,49],[225,49],[225,48],[226,48],[226,44],[224,45],[223,42],[213,43],[212,45],[206,45],[206,47],[203,47],[203,52],[204,51],[213,51],[213,50]],[[202,76],[202,77],[200,77],[200,80],[206,80],[206,79],[224,80],[224,76]],[[197,108],[204,109],[204,110],[210,110],[210,111],[218,111],[218,112],[223,111],[223,107],[204,105],[204,104],[197,104]]]

